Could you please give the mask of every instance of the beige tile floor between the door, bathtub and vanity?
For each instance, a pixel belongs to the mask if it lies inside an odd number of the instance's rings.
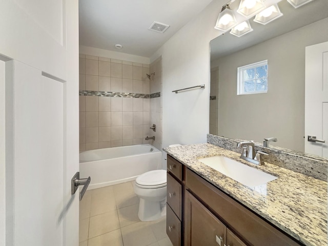
[[[133,181],[87,191],[80,201],[79,246],[172,246],[166,218],[142,222]]]

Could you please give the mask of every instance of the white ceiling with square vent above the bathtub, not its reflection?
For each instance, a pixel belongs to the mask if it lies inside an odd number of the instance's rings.
[[[150,57],[212,0],[79,0],[79,44]],[[218,10],[219,13],[220,10]],[[159,33],[153,22],[170,27]],[[115,44],[123,46],[116,49]]]

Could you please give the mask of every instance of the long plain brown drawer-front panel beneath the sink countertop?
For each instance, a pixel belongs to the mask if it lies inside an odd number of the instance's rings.
[[[187,169],[186,186],[207,204],[242,239],[254,246],[300,245],[258,215]]]

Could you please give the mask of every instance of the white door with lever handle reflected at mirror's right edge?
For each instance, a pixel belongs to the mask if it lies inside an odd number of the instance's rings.
[[[305,48],[305,152],[328,157],[328,42]]]

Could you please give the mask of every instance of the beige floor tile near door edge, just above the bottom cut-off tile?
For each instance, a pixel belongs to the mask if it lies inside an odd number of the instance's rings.
[[[117,211],[110,211],[90,218],[89,238],[119,229]]]

